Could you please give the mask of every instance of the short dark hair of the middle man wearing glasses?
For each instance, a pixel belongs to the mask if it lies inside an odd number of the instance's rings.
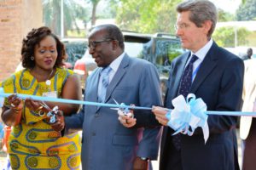
[[[107,31],[105,38],[113,38],[113,40],[117,40],[119,42],[119,47],[123,50],[125,49],[124,36],[118,26],[112,24],[104,24],[96,26],[95,29]]]

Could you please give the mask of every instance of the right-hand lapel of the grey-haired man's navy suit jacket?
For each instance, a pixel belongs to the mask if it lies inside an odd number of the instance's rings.
[[[201,83],[207,78],[207,76],[216,67],[218,60],[218,46],[215,42],[212,44],[212,48],[208,51],[205,59],[201,62],[199,71],[196,74],[195,80],[192,83],[191,93],[196,92]]]

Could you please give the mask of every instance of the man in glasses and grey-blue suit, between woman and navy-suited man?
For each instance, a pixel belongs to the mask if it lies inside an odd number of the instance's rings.
[[[87,79],[84,100],[107,104],[114,104],[116,100],[148,107],[161,105],[156,68],[146,60],[129,57],[124,46],[117,26],[96,26],[90,32],[89,50],[99,68]],[[107,67],[110,71],[102,76]],[[106,77],[107,82],[103,81]],[[66,133],[83,128],[83,169],[147,169],[148,160],[158,156],[160,127],[151,111],[134,111],[134,116],[137,127],[126,128],[119,122],[117,111],[84,105],[79,114],[65,117],[65,122],[58,119],[56,124],[65,125]]]

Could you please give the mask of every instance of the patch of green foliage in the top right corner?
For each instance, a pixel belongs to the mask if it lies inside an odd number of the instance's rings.
[[[241,3],[236,11],[237,20],[256,20],[256,0],[247,0]]]

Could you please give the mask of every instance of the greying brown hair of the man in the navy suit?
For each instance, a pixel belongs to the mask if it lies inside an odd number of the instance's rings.
[[[206,20],[212,21],[212,27],[209,30],[207,37],[212,37],[212,33],[215,29],[218,12],[215,5],[207,0],[189,0],[177,5],[177,12],[182,13],[189,11],[189,20],[195,23],[195,26],[201,27]]]

